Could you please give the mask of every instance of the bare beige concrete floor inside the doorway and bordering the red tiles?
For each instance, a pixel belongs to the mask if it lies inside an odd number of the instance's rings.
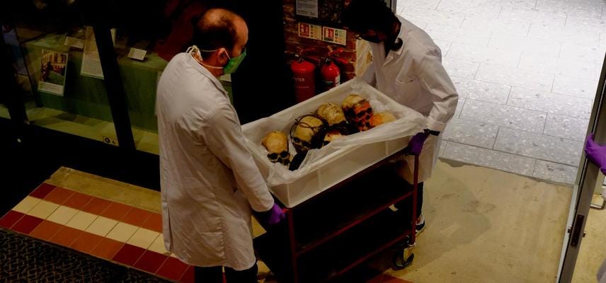
[[[69,168],[48,182],[159,212],[159,193],[142,187]],[[416,283],[554,282],[571,187],[443,160],[426,187],[428,226],[415,261],[386,274]],[[605,211],[590,212],[573,282],[591,282],[606,258],[604,223]],[[261,272],[267,272],[263,265]]]

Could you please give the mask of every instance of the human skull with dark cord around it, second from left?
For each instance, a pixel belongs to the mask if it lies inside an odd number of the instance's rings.
[[[316,143],[319,132],[324,132],[324,121],[314,115],[304,115],[295,120],[290,128],[290,139],[297,152],[319,149]]]

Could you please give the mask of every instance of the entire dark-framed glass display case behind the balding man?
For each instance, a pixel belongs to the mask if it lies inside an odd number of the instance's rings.
[[[210,6],[230,8],[248,23],[249,55],[232,77],[219,78],[242,123],[290,103],[287,80],[260,81],[271,66],[287,69],[282,5],[262,17],[240,1],[11,1],[3,35],[21,85],[26,124],[158,154],[156,86],[173,55],[190,45],[193,19]],[[271,13],[269,13],[271,11]],[[134,16],[137,15],[137,16]],[[268,15],[275,22],[266,27]],[[109,38],[111,37],[111,40]],[[234,98],[232,89],[241,93]],[[21,98],[20,98],[21,100]],[[261,106],[256,101],[267,100]],[[8,115],[0,101],[0,117]]]

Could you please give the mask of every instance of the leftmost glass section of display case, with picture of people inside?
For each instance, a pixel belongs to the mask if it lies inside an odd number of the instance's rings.
[[[26,119],[60,132],[118,144],[102,79],[82,73],[84,31],[77,4],[11,4],[3,35],[21,86]]]

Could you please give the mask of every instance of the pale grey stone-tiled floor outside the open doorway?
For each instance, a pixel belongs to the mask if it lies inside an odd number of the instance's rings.
[[[401,0],[459,91],[440,156],[571,184],[606,53],[603,0]]]

